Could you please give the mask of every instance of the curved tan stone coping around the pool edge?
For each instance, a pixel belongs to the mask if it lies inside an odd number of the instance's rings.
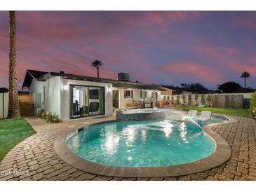
[[[56,153],[58,153],[58,156],[60,156],[60,158],[62,158],[62,160],[64,160],[69,165],[72,165],[79,170],[83,170],[84,172],[108,177],[174,177],[196,172],[203,172],[205,170],[209,170],[213,167],[221,165],[231,157],[231,148],[229,144],[220,135],[217,135],[217,133],[215,133],[211,128],[213,128],[215,125],[236,123],[236,119],[220,114],[215,114],[215,116],[222,116],[229,119],[228,122],[212,123],[203,126],[203,132],[205,132],[208,137],[213,139],[216,144],[215,151],[210,156],[200,160],[195,160],[191,163],[159,167],[121,167],[103,165],[100,163],[93,163],[89,160],[77,156],[67,146],[66,139],[74,132],[88,128],[90,125],[96,125],[103,122],[107,123],[116,120],[97,121],[95,123],[90,123],[86,126],[83,126],[83,128],[76,128],[76,130],[72,132],[70,132],[70,130],[63,132],[62,135],[55,139],[54,149]]]

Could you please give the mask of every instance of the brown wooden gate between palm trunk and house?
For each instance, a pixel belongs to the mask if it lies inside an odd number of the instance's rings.
[[[21,116],[34,116],[34,95],[18,95]]]

